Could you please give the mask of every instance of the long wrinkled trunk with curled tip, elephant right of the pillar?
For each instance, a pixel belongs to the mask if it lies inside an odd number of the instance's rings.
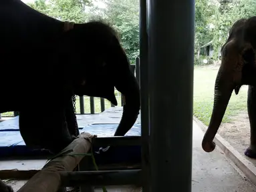
[[[232,77],[232,71],[225,70],[223,67],[219,69],[215,81],[213,113],[211,115],[209,127],[205,133],[205,136],[203,137],[202,142],[203,150],[206,152],[211,152],[215,149],[215,143],[213,142],[213,139],[219,129],[219,126],[221,125],[221,121],[234,89]]]

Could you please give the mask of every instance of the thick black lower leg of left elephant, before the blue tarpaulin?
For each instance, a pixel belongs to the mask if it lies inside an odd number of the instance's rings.
[[[73,141],[64,106],[59,105],[51,110],[49,106],[44,106],[36,113],[33,113],[35,109],[28,108],[27,111],[19,111],[19,131],[27,147],[59,153]]]

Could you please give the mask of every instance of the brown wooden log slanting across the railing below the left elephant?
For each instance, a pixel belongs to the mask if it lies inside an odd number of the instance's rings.
[[[58,157],[49,161],[41,171],[29,179],[18,192],[57,191],[61,186],[59,171],[73,171],[85,156],[83,154],[90,151],[93,137],[94,135],[90,135],[90,133],[80,134],[77,139],[61,151]]]

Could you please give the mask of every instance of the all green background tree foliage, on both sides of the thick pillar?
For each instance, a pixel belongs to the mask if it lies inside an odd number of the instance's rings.
[[[120,34],[121,43],[131,63],[139,55],[139,1],[98,0],[106,7],[94,5],[92,0],[35,0],[28,3],[33,9],[61,21],[84,23],[102,19]],[[214,59],[227,41],[229,29],[241,18],[256,15],[255,0],[196,0],[195,1],[195,64],[200,64],[199,50],[213,41]]]

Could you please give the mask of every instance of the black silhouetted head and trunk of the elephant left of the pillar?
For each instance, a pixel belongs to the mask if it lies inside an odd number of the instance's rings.
[[[117,33],[105,23],[91,21],[75,24],[61,41],[68,41],[66,54],[74,55],[67,70],[74,73],[70,77],[76,95],[106,98],[114,105],[114,87],[124,95],[124,111],[115,133],[124,136],[138,117],[140,89]]]

